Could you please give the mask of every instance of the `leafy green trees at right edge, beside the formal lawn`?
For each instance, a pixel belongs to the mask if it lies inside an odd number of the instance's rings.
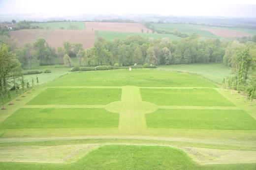
[[[223,86],[228,89],[244,92],[245,97],[256,97],[256,44],[239,41],[228,43],[224,64],[232,68],[232,75],[225,77]],[[231,91],[232,93],[232,91]]]

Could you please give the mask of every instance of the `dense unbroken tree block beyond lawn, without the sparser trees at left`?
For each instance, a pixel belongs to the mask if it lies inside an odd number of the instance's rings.
[[[193,34],[180,41],[167,38],[154,40],[131,36],[125,40],[105,41],[100,38],[95,46],[77,55],[80,66],[114,65],[122,66],[149,63],[190,64],[221,62],[226,42],[218,39],[200,40]]]

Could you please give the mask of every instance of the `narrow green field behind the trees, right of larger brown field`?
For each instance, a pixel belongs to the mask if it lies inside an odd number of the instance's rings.
[[[107,41],[112,41],[115,38],[118,39],[126,39],[129,36],[141,36],[143,38],[154,38],[154,39],[161,39],[161,38],[169,38],[170,40],[180,40],[181,37],[171,34],[152,34],[152,33],[132,33],[132,32],[113,32],[113,31],[96,31],[96,39],[101,37]]]

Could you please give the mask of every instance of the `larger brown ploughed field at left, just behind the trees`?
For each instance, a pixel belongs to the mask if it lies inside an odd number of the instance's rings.
[[[55,48],[63,47],[64,41],[81,43],[84,48],[93,47],[95,42],[95,32],[91,30],[23,29],[10,31],[10,35],[17,39],[20,46],[37,38],[44,38]]]

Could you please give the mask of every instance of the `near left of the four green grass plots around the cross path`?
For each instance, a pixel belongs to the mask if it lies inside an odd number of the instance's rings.
[[[119,114],[105,109],[21,108],[0,123],[1,129],[118,127]]]

